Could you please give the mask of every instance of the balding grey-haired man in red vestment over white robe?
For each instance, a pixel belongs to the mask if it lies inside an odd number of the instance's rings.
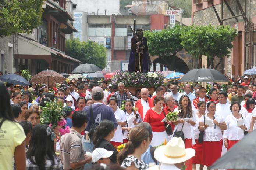
[[[144,117],[146,115],[146,112],[154,107],[153,100],[149,97],[149,90],[146,88],[141,89],[141,99],[137,100],[134,103],[134,107],[138,109],[138,112],[144,120]]]

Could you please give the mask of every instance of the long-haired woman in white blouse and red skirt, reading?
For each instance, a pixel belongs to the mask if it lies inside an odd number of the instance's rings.
[[[193,113],[191,102],[187,95],[182,95],[180,97],[178,108],[175,108],[174,112],[180,109],[182,111],[178,113],[178,119],[176,121],[172,121],[172,123],[175,125],[173,135],[176,131],[182,131],[184,133],[185,138],[185,148],[192,148],[192,145],[196,144],[193,129],[193,126],[196,124],[196,117],[195,114]],[[191,170],[192,159],[187,160],[185,165],[186,170]]]

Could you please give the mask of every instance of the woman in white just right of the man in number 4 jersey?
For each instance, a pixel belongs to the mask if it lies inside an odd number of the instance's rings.
[[[119,146],[124,143],[122,127],[126,125],[126,116],[124,111],[117,107],[117,97],[114,95],[109,98],[109,106],[113,109],[118,124],[117,130],[115,130],[115,135],[110,143],[113,146]]]

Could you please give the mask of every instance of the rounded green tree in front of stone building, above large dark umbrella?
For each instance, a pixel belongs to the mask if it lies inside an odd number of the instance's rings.
[[[230,56],[232,41],[236,36],[237,31],[228,26],[191,26],[182,32],[181,44],[193,56],[206,55],[208,67],[211,65],[213,68],[214,58],[220,58],[220,63],[224,56]]]

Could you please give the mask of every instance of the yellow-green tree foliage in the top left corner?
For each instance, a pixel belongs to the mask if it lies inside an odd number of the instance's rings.
[[[0,0],[0,38],[31,33],[42,19],[44,0]]]

